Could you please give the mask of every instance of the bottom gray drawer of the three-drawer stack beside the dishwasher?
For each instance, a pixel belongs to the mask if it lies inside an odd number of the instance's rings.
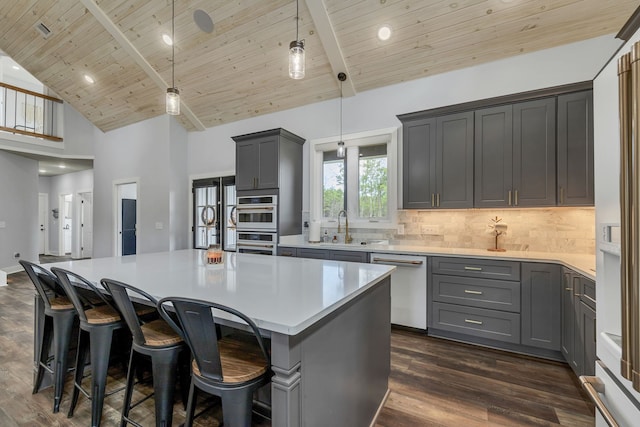
[[[520,315],[434,302],[431,327],[497,341],[520,343]]]

